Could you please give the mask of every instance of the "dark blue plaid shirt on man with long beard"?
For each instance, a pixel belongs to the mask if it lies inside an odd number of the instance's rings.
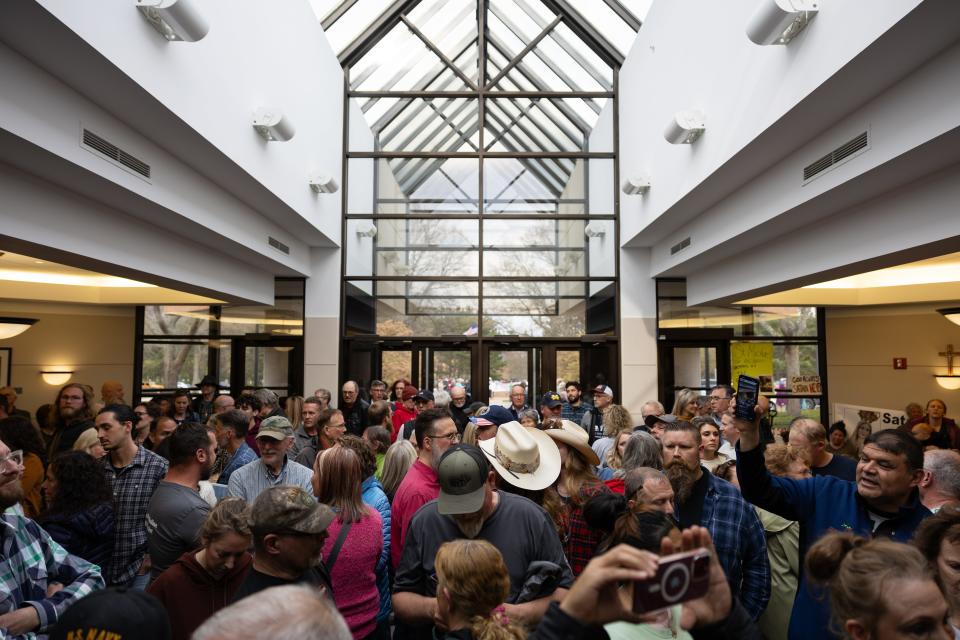
[[[770,561],[763,524],[753,506],[732,484],[704,473],[710,484],[700,524],[710,531],[730,589],[756,620],[770,600]]]

